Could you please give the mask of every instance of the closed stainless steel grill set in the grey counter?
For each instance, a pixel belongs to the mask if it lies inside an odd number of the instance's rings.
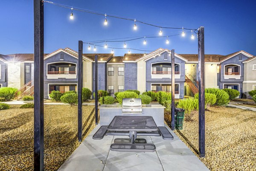
[[[141,99],[122,99],[122,113],[142,113]]]

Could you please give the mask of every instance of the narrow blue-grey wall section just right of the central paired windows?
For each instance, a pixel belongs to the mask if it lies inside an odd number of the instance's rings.
[[[145,83],[141,83],[145,84]],[[137,63],[125,62],[125,90],[137,90]]]

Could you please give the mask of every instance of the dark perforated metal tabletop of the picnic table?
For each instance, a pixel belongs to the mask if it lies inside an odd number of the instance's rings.
[[[115,116],[108,125],[110,131],[156,131],[152,116]]]

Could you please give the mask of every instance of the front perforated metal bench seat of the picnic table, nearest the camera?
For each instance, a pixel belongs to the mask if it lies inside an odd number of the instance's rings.
[[[156,146],[154,144],[119,144],[114,143],[110,146],[111,151],[121,152],[154,152]]]

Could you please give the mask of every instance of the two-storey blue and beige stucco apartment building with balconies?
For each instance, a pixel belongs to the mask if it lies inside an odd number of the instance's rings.
[[[171,52],[156,49],[149,54],[98,55],[98,90],[111,96],[125,90],[171,91]],[[94,92],[95,54],[83,54],[83,87]],[[240,98],[256,89],[256,56],[239,51],[229,55],[205,55],[205,87],[239,90]],[[78,52],[70,48],[44,54],[44,98],[52,90],[77,90]],[[198,92],[198,55],[175,53],[175,98]],[[33,86],[33,54],[0,55],[0,87]]]

